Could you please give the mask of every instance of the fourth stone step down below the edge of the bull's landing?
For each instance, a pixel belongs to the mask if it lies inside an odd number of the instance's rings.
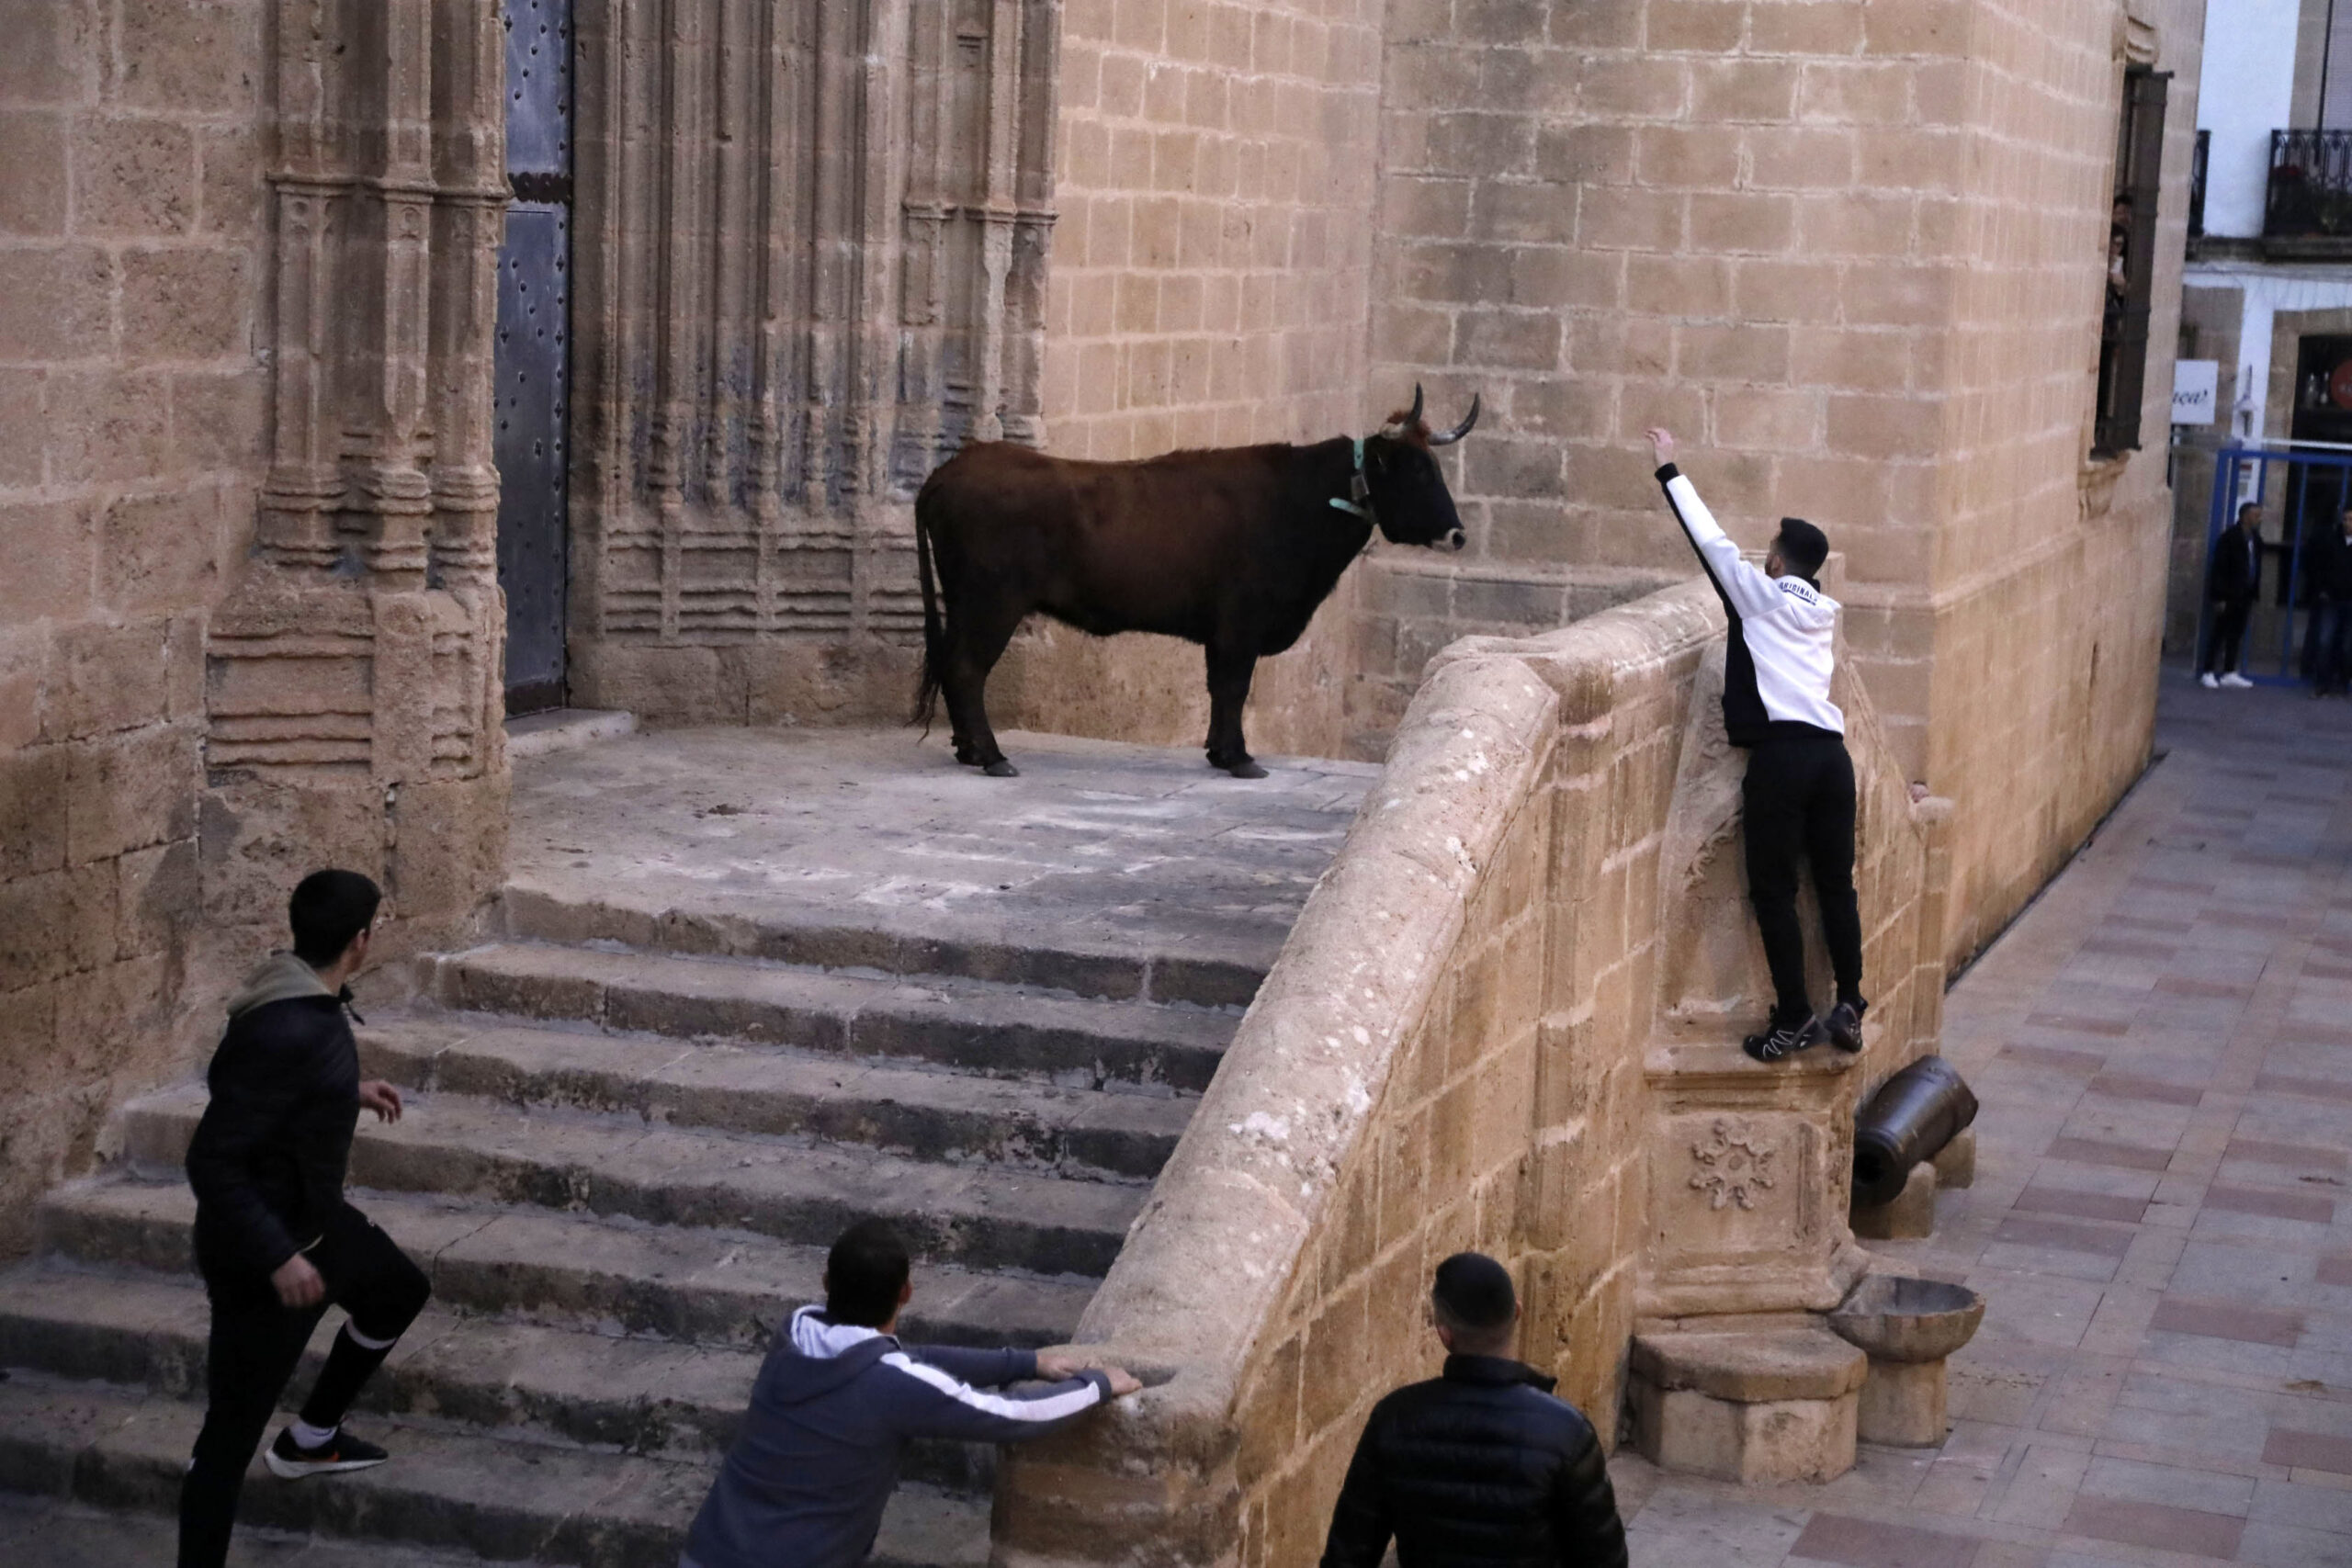
[[[409,1192],[350,1194],[433,1276],[454,1312],[564,1328],[652,1333],[764,1349],[793,1307],[823,1295],[826,1248],[743,1229],[600,1220]],[[191,1267],[195,1197],[183,1180],[99,1178],[54,1190],[40,1244],[75,1265],[179,1274]],[[976,1274],[927,1265],[906,1312],[913,1340],[1061,1345],[1094,1295],[1087,1279]]]

